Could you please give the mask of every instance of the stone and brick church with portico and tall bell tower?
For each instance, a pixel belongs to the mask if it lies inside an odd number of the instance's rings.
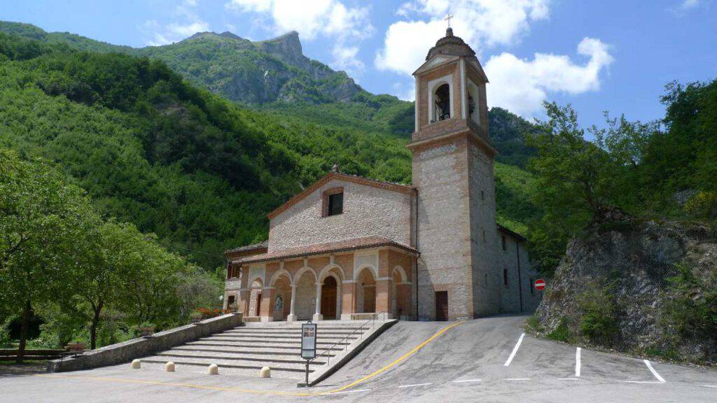
[[[525,239],[495,222],[483,72],[447,29],[416,80],[412,185],[331,172],[227,250],[224,307],[245,321],[446,321],[531,311]]]

